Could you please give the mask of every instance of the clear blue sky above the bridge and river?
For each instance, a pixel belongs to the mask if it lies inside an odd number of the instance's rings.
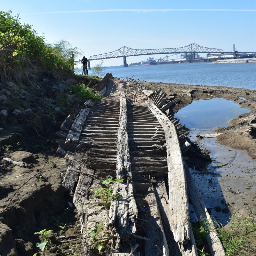
[[[255,0],[0,0],[0,10],[20,14],[21,23],[44,33],[46,42],[65,39],[87,58],[122,46],[155,49],[191,43],[223,51],[232,51],[235,44],[238,51],[256,52]],[[147,57],[127,57],[127,63]],[[122,64],[122,58],[103,62]]]

